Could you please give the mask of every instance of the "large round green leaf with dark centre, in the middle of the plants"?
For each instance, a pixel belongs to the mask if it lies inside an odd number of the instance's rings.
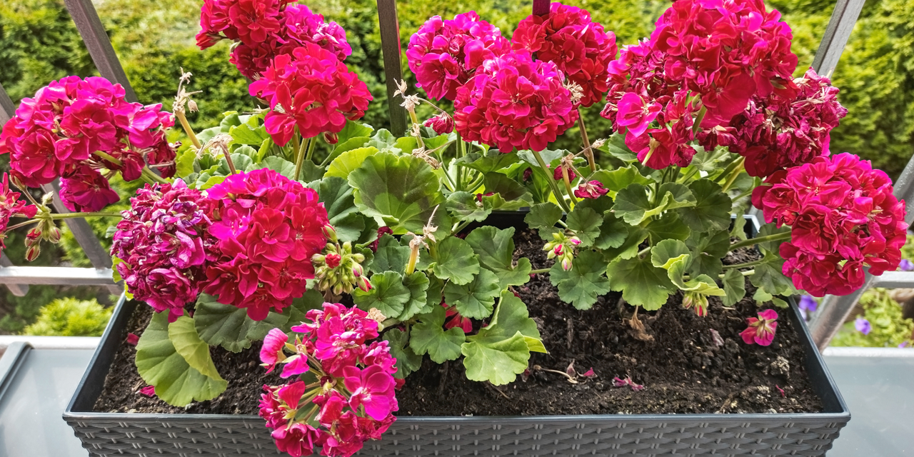
[[[394,233],[420,233],[432,214],[435,216],[431,225],[438,227],[438,233],[447,234],[451,228],[447,211],[435,211],[444,203],[441,182],[419,157],[369,155],[349,174],[349,186],[356,189],[359,211],[383,220]]]

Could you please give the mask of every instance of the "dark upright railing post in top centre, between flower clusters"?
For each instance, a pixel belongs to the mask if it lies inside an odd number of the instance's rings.
[[[403,80],[397,0],[377,0],[377,22],[381,31],[381,52],[384,54],[384,76],[388,84],[390,131],[400,136],[406,133],[406,110],[400,106],[399,97],[394,96],[397,83]]]

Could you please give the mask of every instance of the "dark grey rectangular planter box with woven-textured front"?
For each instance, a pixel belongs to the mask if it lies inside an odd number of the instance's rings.
[[[507,216],[487,222],[514,226],[517,215]],[[753,224],[748,226],[754,231]],[[258,416],[92,411],[137,305],[142,304],[118,304],[63,414],[90,455],[282,455]],[[823,412],[402,417],[382,440],[368,441],[356,455],[825,455],[850,420],[850,412],[796,303],[787,315],[802,335],[803,367],[822,399]]]

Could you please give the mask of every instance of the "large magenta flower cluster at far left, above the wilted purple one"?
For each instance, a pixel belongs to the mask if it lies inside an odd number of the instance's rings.
[[[98,211],[119,199],[100,171],[133,181],[148,163],[175,174],[175,145],[165,139],[174,124],[161,104],[126,101],[120,84],[69,76],[19,104],[0,133],[0,154],[11,155],[11,173],[25,186],[59,177],[66,207]]]

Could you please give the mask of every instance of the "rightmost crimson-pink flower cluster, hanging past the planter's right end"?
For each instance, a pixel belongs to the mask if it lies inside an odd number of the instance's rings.
[[[898,268],[908,228],[904,201],[888,175],[854,154],[778,171],[755,189],[752,203],[766,222],[791,227],[791,241],[781,244],[783,273],[813,296],[862,287],[865,266],[874,275]]]

